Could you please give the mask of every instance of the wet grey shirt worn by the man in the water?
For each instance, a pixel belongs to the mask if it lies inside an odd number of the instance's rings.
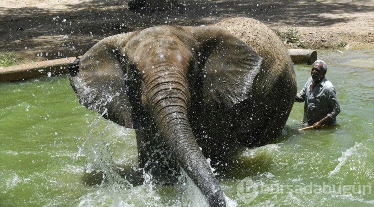
[[[305,83],[304,88],[297,93],[296,102],[304,102],[303,124],[313,125],[326,116],[324,125],[336,124],[336,117],[340,113],[340,105],[336,96],[335,87],[325,77],[310,91],[313,83],[312,77]]]

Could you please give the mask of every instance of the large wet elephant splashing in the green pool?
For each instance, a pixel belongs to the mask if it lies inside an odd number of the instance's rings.
[[[297,90],[282,41],[250,18],[110,36],[75,66],[79,102],[135,129],[139,168],[182,168],[210,207],[227,205],[211,165],[279,136]]]

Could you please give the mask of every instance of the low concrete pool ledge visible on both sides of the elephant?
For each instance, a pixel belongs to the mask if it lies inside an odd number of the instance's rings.
[[[288,49],[294,64],[313,64],[317,60],[315,50]],[[80,57],[81,58],[81,57]],[[67,66],[72,64],[75,57],[61,58],[50,61],[20,64],[0,68],[0,82],[25,80],[32,77],[52,76],[68,73]]]

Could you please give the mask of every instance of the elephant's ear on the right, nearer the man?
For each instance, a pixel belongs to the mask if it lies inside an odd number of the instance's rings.
[[[185,27],[196,39],[205,104],[231,109],[251,96],[263,58],[226,30]]]

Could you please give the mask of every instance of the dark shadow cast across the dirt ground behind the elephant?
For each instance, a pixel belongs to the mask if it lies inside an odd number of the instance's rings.
[[[245,16],[279,25],[328,26],[345,18],[320,13],[369,12],[354,2],[325,4],[317,0],[179,0],[178,10],[129,10],[129,0],[91,0],[68,4],[67,9],[0,7],[0,52],[19,52],[29,59],[56,59],[84,54],[99,40],[155,25],[202,25],[223,18]],[[289,23],[289,22],[292,22]]]

